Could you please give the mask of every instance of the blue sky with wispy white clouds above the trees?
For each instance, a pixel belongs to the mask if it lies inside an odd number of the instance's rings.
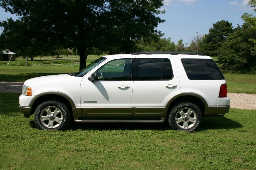
[[[164,0],[165,14],[160,18],[166,22],[159,24],[157,30],[164,33],[163,38],[171,38],[175,44],[182,39],[189,44],[197,33],[202,36],[208,34],[213,23],[220,20],[231,22],[236,28],[242,25],[242,14],[254,14],[248,5],[249,0]],[[255,15],[254,15],[255,16]],[[17,16],[11,15],[0,8],[0,21]]]

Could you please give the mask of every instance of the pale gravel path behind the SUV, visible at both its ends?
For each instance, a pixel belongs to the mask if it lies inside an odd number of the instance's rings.
[[[4,82],[0,81],[0,93],[20,93],[23,82]],[[255,109],[256,95],[246,93],[228,93],[230,106],[238,109]]]

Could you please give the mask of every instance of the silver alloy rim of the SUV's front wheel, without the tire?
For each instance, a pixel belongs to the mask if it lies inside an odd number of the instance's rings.
[[[62,123],[63,113],[58,107],[48,106],[42,110],[40,120],[45,127],[56,128]]]

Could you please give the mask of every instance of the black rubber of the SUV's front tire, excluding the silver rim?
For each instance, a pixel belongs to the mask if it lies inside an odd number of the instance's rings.
[[[54,106],[57,107],[58,109],[60,109],[62,111],[62,115],[63,115],[63,119],[62,119],[62,123],[56,127],[56,128],[48,128],[45,127],[42,124],[42,121],[40,119],[40,116],[42,114],[42,111],[44,110],[44,108],[48,107],[48,106]],[[60,101],[46,101],[44,103],[41,103],[35,111],[34,114],[34,122],[36,124],[36,127],[43,129],[43,130],[63,130],[64,128],[67,127],[68,123],[70,120],[70,113],[68,108],[66,107],[66,105],[64,105],[62,102]]]

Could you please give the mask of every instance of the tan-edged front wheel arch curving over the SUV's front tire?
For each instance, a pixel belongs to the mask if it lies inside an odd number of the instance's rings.
[[[75,108],[74,101],[65,93],[58,92],[58,91],[48,91],[48,92],[40,93],[32,99],[32,101],[29,104],[29,107],[31,107],[30,115],[33,115],[34,111],[36,110],[36,107],[40,103],[49,99],[63,102],[68,107],[70,113],[72,113],[72,108]]]

